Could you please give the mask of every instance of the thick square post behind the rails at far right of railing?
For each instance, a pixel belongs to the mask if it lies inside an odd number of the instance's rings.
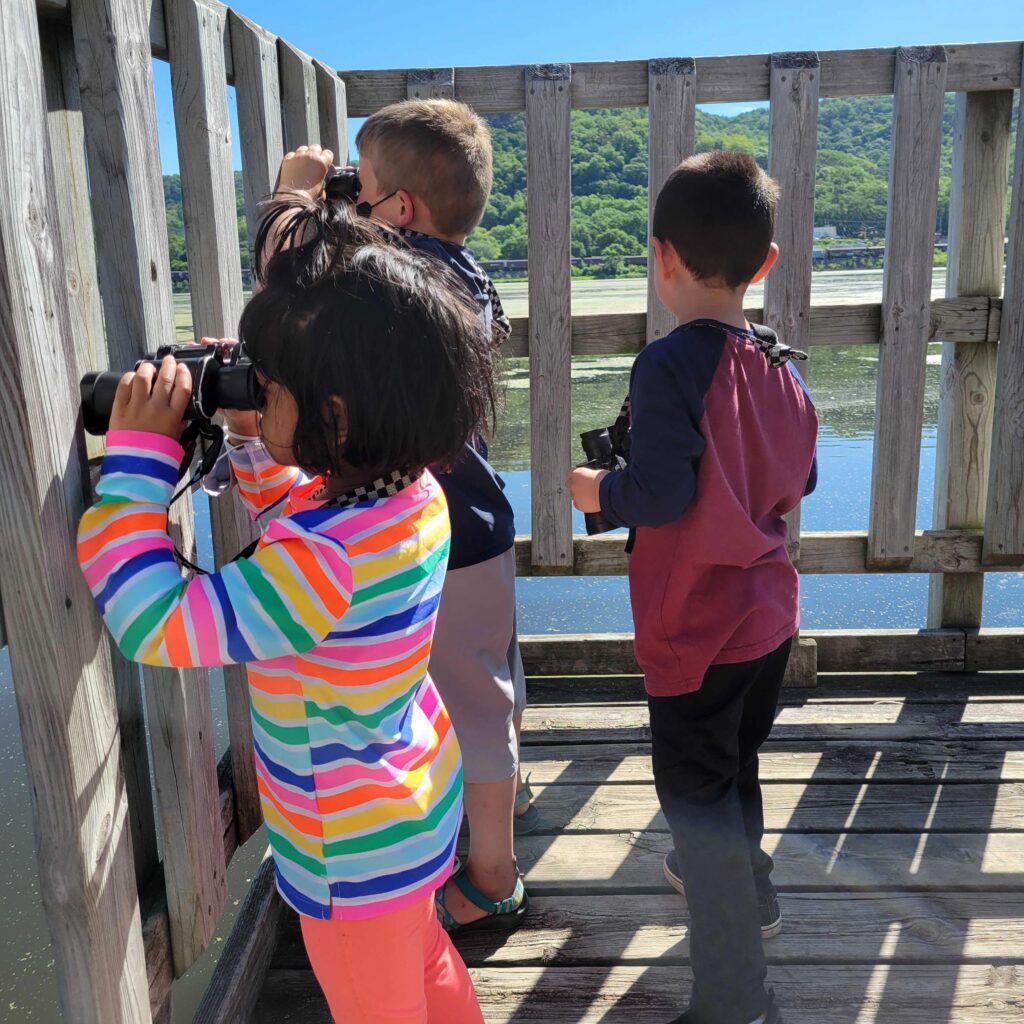
[[[998,296],[1007,216],[1013,91],[956,96],[946,296]],[[985,521],[997,346],[944,342],[935,453],[935,529]],[[928,626],[978,629],[984,574],[929,579]]]

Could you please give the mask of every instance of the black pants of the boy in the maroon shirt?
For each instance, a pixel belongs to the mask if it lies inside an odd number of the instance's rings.
[[[750,1024],[768,1006],[758,897],[774,891],[774,865],[761,849],[758,750],[792,645],[712,666],[695,693],[647,699],[654,785],[690,910],[690,1009],[699,1024]]]

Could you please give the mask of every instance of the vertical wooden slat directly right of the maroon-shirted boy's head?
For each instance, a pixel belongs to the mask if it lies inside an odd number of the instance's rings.
[[[814,176],[817,165],[817,53],[773,53],[768,125],[768,172],[781,186],[775,241],[779,258],[765,280],[765,324],[787,345],[804,351],[811,340],[811,257],[814,246]],[[804,373],[803,364],[794,369]],[[786,371],[788,372],[788,371]],[[800,562],[800,506],[786,516],[790,557]],[[791,685],[817,681],[817,645],[797,637],[786,672]]]

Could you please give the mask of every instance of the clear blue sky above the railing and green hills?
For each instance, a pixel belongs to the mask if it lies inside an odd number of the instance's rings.
[[[336,68],[632,60],[1024,36],[1021,0],[236,0],[240,13]],[[170,74],[157,61],[164,170],[177,170]],[[732,106],[736,112],[741,108]],[[238,158],[236,158],[238,159]]]

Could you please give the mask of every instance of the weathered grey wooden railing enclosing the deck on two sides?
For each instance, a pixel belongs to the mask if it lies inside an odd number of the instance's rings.
[[[209,944],[225,902],[226,863],[260,821],[241,670],[225,673],[231,749],[218,765],[206,673],[140,676],[124,662],[100,629],[74,554],[88,490],[78,377],[86,368],[130,365],[174,338],[151,53],[171,66],[193,322],[203,334],[231,332],[243,301],[226,84],[236,90],[250,241],[285,147],[322,140],[345,153],[349,115],[421,95],[454,95],[482,112],[526,112],[529,316],[514,324],[509,348],[528,356],[530,368],[532,531],[517,542],[522,574],[625,571],[621,538],[571,535],[563,485],[573,450],[571,356],[635,352],[672,326],[652,293],[646,316],[571,315],[571,110],[648,105],[656,184],[693,148],[696,102],[770,99],[770,170],[785,194],[783,258],[752,318],[796,344],[880,346],[869,529],[801,535],[795,519],[794,557],[803,572],[930,572],[935,580],[933,630],[805,637],[802,674],[813,676],[815,651],[818,667],[835,671],[1024,664],[1024,631],[977,629],[983,573],[1024,563],[1019,126],[1000,297],[1020,43],[338,73],[214,0],[4,0],[0,588],[68,1021],[172,1019],[171,982]],[[930,302],[946,91],[959,94],[949,290]],[[896,97],[893,258],[883,301],[814,307],[818,99],[868,93]],[[916,532],[929,341],[943,344],[937,512],[935,528]],[[186,509],[175,527],[186,547],[191,518]],[[215,507],[213,528],[218,560],[244,546],[251,529],[230,503]],[[523,648],[540,674],[635,669],[621,636],[527,637]],[[272,902],[265,874],[257,897]],[[257,920],[264,919],[246,919],[240,940],[250,965],[267,953]],[[245,1020],[254,994],[251,984],[218,983],[198,1019]]]

